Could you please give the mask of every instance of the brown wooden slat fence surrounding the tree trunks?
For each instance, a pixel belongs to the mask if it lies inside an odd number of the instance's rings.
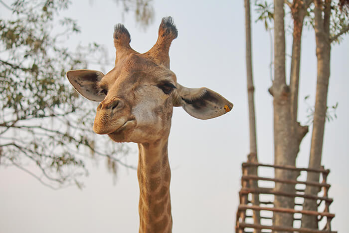
[[[318,172],[322,174],[322,182],[306,182],[306,181],[298,181],[298,180],[286,180],[286,179],[274,179],[268,177],[260,177],[260,176],[252,176],[248,174],[248,168],[250,167],[269,167],[274,169],[283,169],[283,170],[291,170],[296,172]],[[331,221],[335,217],[335,214],[330,213],[330,205],[333,202],[332,198],[328,197],[328,191],[331,187],[330,184],[327,183],[327,176],[330,173],[330,170],[324,169],[312,169],[312,168],[297,168],[293,166],[280,166],[280,165],[270,165],[270,164],[261,164],[261,163],[253,163],[247,162],[242,164],[242,177],[241,177],[241,185],[242,188],[239,192],[240,205],[238,207],[236,213],[236,233],[249,233],[245,231],[245,229],[255,229],[259,232],[263,232],[263,230],[272,230],[272,231],[285,231],[285,232],[299,232],[299,233],[337,233],[331,230]],[[274,190],[273,188],[251,188],[249,187],[249,181],[269,181],[274,183],[285,183],[285,184],[302,184],[306,186],[314,186],[323,189],[323,196],[315,196],[315,195],[307,195],[304,194],[304,189],[296,190],[296,193],[286,193],[279,190]],[[318,201],[318,207],[321,203],[325,202],[325,208],[322,212],[318,211],[305,211],[305,210],[295,210],[288,208],[275,208],[273,206],[272,201],[260,201],[260,206],[254,206],[249,200],[248,194],[264,194],[268,196],[284,196],[284,197],[293,197],[293,198],[302,198],[312,199]],[[273,200],[273,199],[272,199]],[[263,206],[262,206],[263,205]],[[268,205],[268,206],[267,206]],[[302,204],[296,203],[296,206],[302,206]],[[307,228],[294,228],[294,227],[283,227],[283,226],[273,226],[273,225],[261,225],[260,223],[246,223],[246,219],[253,220],[253,214],[247,215],[246,211],[250,210],[251,213],[255,211],[259,211],[261,220],[272,220],[270,216],[261,215],[260,211],[268,211],[268,212],[280,212],[280,213],[289,213],[289,214],[301,214],[301,215],[311,215],[317,216],[318,222],[322,221],[323,218],[326,218],[326,224],[324,229],[307,229]],[[294,218],[294,221],[300,221],[301,218]],[[251,222],[251,221],[249,221]],[[253,222],[253,221],[252,221]]]

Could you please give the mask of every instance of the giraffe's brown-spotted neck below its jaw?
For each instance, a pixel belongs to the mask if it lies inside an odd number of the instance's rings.
[[[168,138],[154,144],[138,144],[140,233],[171,233],[171,170]]]

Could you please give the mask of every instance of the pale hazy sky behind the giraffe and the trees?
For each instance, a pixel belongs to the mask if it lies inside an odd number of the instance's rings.
[[[6,0],[5,2],[9,2]],[[172,167],[171,199],[175,233],[227,233],[235,228],[240,189],[241,163],[249,153],[248,110],[245,71],[243,0],[172,0],[154,2],[154,23],[144,31],[132,14],[122,18],[121,4],[113,0],[74,0],[63,15],[75,18],[82,33],[69,44],[96,41],[105,44],[114,56],[113,26],[122,22],[131,33],[131,46],[145,52],[157,40],[163,16],[173,16],[178,37],[170,49],[171,69],[181,85],[206,86],[234,103],[234,109],[211,120],[192,118],[175,108],[169,139]],[[10,16],[0,8],[1,17]],[[264,24],[254,23],[253,73],[257,112],[258,157],[273,163],[270,38]],[[287,22],[290,23],[290,22]],[[292,40],[287,36],[287,53]],[[331,212],[336,214],[332,229],[348,231],[349,194],[349,36],[331,53],[328,104],[339,102],[338,119],[326,123],[322,164],[331,169],[329,195],[334,197]],[[287,76],[290,62],[287,62]],[[97,67],[91,66],[95,69]],[[111,69],[106,67],[104,72]],[[299,92],[299,120],[307,122],[308,103],[314,105],[316,88],[315,38],[305,30]],[[87,100],[86,100],[87,101]],[[297,166],[307,167],[311,130],[301,144]],[[107,137],[107,136],[98,136]],[[127,162],[137,165],[136,144]],[[88,162],[90,176],[81,191],[70,187],[53,191],[15,168],[0,169],[1,233],[135,233],[138,232],[139,188],[135,170],[119,166],[116,185],[105,162]],[[259,175],[273,172],[260,170]]]

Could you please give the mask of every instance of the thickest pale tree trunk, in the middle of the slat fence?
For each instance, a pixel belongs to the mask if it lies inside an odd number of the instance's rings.
[[[285,74],[285,28],[284,1],[274,0],[274,81],[269,92],[273,95],[274,106],[274,164],[295,166],[296,157],[289,146],[294,145],[292,118],[290,114],[290,88],[286,85]],[[293,172],[275,169],[276,179],[293,180]],[[275,190],[295,193],[295,185],[275,184]],[[294,208],[294,198],[275,196],[275,207]],[[293,215],[274,213],[273,225],[292,227]]]

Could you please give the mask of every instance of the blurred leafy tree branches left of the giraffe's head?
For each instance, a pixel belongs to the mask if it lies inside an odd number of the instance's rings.
[[[65,77],[90,62],[108,63],[104,47],[66,46],[69,35],[80,32],[75,20],[59,18],[68,0],[0,4],[12,11],[11,19],[0,18],[0,166],[16,166],[51,188],[81,187],[86,158],[106,158],[115,175],[117,163],[127,166],[121,158],[129,148],[95,137],[96,105]]]

